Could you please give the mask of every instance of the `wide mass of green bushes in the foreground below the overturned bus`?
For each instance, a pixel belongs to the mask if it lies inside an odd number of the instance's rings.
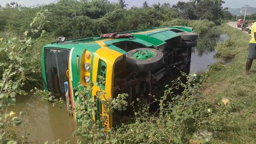
[[[137,98],[137,102],[132,103],[134,116],[110,129],[108,133],[104,132],[105,116],[100,115],[96,122],[91,119],[91,115],[96,115],[99,110],[95,103],[99,100],[104,105],[104,111],[110,114],[113,108],[126,109],[127,102],[124,99],[127,95],[119,94],[117,98],[106,99],[105,92],[100,90],[94,99],[89,96],[92,83],[88,86],[79,85],[77,95],[80,102],[75,110],[82,125],[77,128],[75,134],[82,136],[88,143],[188,143],[192,133],[199,128],[209,131],[221,130],[221,122],[227,114],[225,106],[213,106],[198,100],[200,83],[196,83],[194,75],[182,75],[187,81],[183,82],[181,77],[177,78],[172,81],[172,85],[166,85],[161,99],[155,99],[154,102],[159,103],[156,112],[152,113],[149,104]],[[184,91],[174,94],[178,89]]]

